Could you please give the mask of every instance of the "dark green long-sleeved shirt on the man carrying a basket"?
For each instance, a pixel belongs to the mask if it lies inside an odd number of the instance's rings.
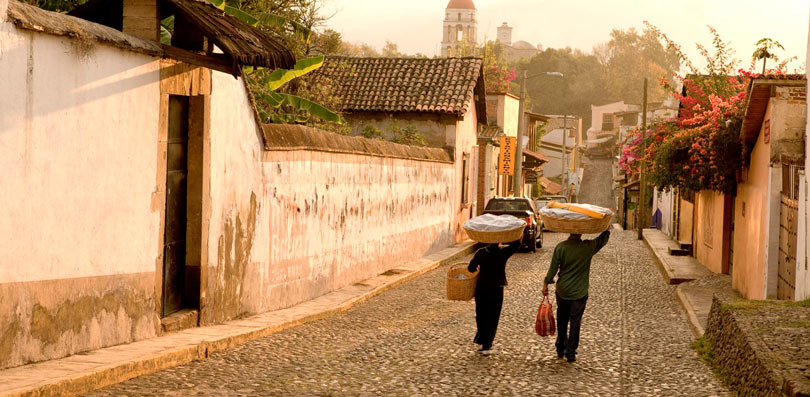
[[[546,284],[554,283],[559,270],[557,295],[565,300],[577,300],[588,295],[588,279],[591,273],[591,258],[607,244],[610,231],[605,230],[594,240],[582,240],[571,235],[557,244],[551,257],[551,266],[546,274]]]

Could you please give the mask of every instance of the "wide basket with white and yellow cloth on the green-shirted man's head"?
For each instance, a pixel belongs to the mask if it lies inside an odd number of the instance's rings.
[[[591,204],[552,201],[540,209],[540,216],[545,228],[554,232],[596,234],[610,226],[613,211]]]

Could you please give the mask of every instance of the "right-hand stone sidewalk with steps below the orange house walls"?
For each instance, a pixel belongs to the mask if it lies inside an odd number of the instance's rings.
[[[702,336],[714,295],[737,295],[731,287],[731,276],[712,273],[691,256],[669,255],[668,249],[678,248],[678,243],[660,230],[644,229],[643,235],[664,280],[668,284],[677,284],[675,296],[686,312],[695,336]]]

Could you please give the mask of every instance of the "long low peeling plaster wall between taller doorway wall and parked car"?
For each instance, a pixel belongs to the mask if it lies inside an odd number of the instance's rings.
[[[262,310],[287,307],[445,248],[453,165],[320,151],[265,153]]]

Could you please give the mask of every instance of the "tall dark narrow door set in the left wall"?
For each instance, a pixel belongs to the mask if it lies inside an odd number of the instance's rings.
[[[183,307],[186,267],[189,100],[169,96],[166,222],[163,231],[163,316]]]

